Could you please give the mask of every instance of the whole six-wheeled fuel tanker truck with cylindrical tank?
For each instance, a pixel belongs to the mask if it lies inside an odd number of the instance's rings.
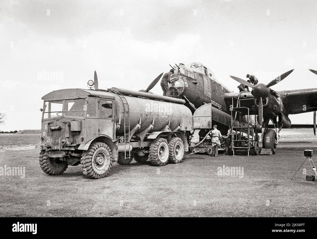
[[[40,165],[49,175],[81,164],[90,178],[115,164],[180,163],[192,113],[183,99],[120,88],[62,89],[42,97]]]

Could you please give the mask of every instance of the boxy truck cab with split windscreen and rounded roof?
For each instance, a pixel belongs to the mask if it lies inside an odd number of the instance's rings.
[[[76,149],[100,134],[115,141],[113,95],[64,89],[51,92],[42,99],[42,149]]]

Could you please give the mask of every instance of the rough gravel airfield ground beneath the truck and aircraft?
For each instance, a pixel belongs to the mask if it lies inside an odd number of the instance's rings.
[[[309,142],[308,142],[309,141]],[[0,176],[1,216],[317,216],[316,181],[304,149],[316,139],[283,139],[275,155],[186,155],[180,164],[115,165],[92,180],[81,166],[64,174],[42,172],[38,150],[4,151],[0,166],[25,167],[25,178]],[[313,158],[314,159],[314,158]],[[217,175],[218,167],[243,167],[243,177]],[[242,175],[242,168],[240,168]],[[220,170],[222,172],[222,170]]]

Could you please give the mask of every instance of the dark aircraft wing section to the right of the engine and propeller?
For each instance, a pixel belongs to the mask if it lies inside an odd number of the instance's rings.
[[[288,114],[317,111],[317,88],[278,91]]]

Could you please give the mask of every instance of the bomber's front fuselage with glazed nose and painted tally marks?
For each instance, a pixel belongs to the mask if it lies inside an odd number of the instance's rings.
[[[218,128],[221,125],[223,131],[228,130],[228,127],[231,126],[230,108],[232,109],[232,104],[225,101],[224,94],[232,93],[232,91],[217,81],[213,72],[199,63],[192,63],[191,67],[179,65],[179,69],[174,67],[171,81],[171,97],[184,99],[185,105],[192,112],[204,104],[211,103],[213,108],[217,109],[215,112],[220,112],[212,115],[212,124],[217,124]],[[230,118],[228,118],[229,116]],[[254,118],[254,116],[250,116],[249,120],[249,124],[253,127],[256,125]],[[246,126],[247,116],[243,116],[241,122],[237,119],[236,125],[240,123]]]

